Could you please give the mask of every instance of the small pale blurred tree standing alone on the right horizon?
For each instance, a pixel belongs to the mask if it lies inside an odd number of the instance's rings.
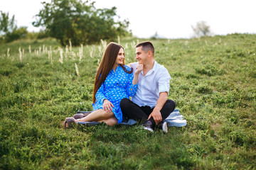
[[[198,37],[198,38],[211,35],[210,26],[208,26],[206,21],[200,21],[200,22],[196,23],[195,27],[193,27],[193,26],[191,26],[191,27],[192,27],[193,32],[195,33],[196,37]]]

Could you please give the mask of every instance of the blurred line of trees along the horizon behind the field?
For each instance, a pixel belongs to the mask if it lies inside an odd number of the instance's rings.
[[[0,43],[21,38],[56,38],[61,45],[90,45],[100,40],[114,41],[117,37],[132,35],[127,30],[129,21],[119,21],[116,7],[95,8],[94,1],[51,0],[43,2],[43,9],[36,14],[33,26],[42,27],[39,33],[28,33],[26,27],[18,28],[14,16],[0,15]],[[198,22],[192,29],[196,37],[210,35],[210,26]]]

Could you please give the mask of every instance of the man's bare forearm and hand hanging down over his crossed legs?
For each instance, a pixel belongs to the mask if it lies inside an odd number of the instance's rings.
[[[167,98],[168,98],[168,93],[166,91],[165,92],[161,92],[159,94],[159,99],[156,102],[156,106],[154,107],[154,110],[149,115],[148,120],[151,117],[153,117],[156,125],[158,125],[162,121],[162,117],[161,117],[161,112],[160,111],[163,108],[164,104],[166,103]]]

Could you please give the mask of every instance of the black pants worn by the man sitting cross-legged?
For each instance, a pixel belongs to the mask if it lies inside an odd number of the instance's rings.
[[[176,104],[172,100],[167,100],[161,109],[161,117],[164,121],[172,111],[174,111]],[[123,98],[120,102],[120,107],[124,118],[132,118],[134,120],[145,121],[149,118],[149,115],[152,113],[154,108],[150,108],[149,106],[138,106],[136,103],[129,100],[129,98]],[[151,121],[153,128],[156,126],[154,118],[151,117],[149,119]]]

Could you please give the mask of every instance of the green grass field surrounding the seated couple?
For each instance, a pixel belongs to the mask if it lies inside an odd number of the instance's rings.
[[[126,63],[140,41],[121,39]],[[256,35],[151,42],[188,121],[166,135],[141,125],[63,129],[65,117],[92,110],[106,42],[1,45],[0,169],[256,169]]]

